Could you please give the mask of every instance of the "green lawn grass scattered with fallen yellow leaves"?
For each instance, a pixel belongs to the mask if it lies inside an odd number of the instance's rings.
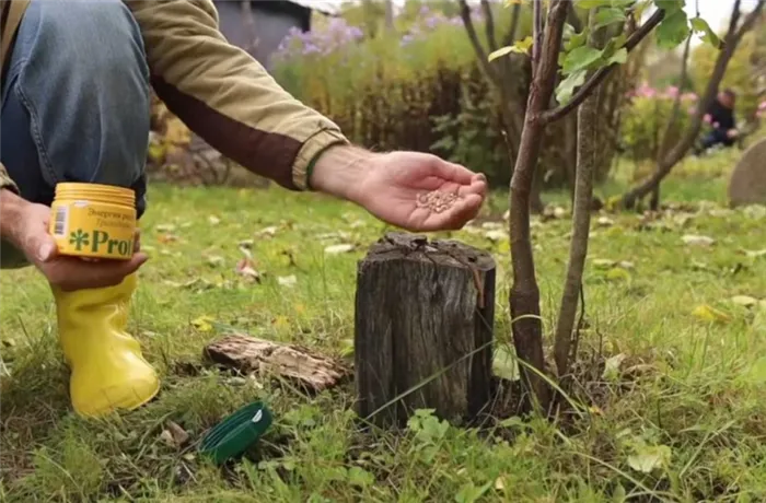
[[[766,210],[723,208],[734,159],[689,161],[674,174],[663,197],[684,210],[594,219],[581,353],[603,353],[610,370],[585,383],[599,397],[574,428],[509,418],[510,435],[425,412],[404,433],[363,435],[350,387],[309,398],[206,369],[201,351],[220,326],[347,355],[356,260],[385,227],[317,195],[154,186],[142,222],[152,258],[130,330],[162,373],[156,401],[101,421],[73,416],[46,284],[31,270],[0,274],[0,501],[764,501],[766,308],[731,297],[766,297],[766,256],[745,252],[764,248]],[[487,211],[503,210],[504,195],[494,195]],[[256,235],[267,227],[272,236]],[[484,232],[453,237],[495,254],[496,335],[509,348],[508,242]],[[546,334],[569,232],[568,219],[533,227]],[[716,243],[689,246],[685,234]],[[260,284],[234,272],[244,239],[254,239]],[[338,243],[359,247],[324,253]],[[280,284],[290,276],[294,286]],[[717,311],[695,315],[698,306]],[[198,440],[255,399],[276,422],[248,459],[217,469],[161,440],[166,420]]]

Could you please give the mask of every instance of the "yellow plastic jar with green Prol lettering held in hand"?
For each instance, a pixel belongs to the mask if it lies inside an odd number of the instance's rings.
[[[49,232],[61,255],[128,260],[134,255],[136,194],[97,184],[56,186]]]

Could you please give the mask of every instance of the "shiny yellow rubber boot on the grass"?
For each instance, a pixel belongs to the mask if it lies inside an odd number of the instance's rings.
[[[160,390],[156,372],[125,331],[136,286],[134,273],[105,289],[54,289],[59,340],[71,370],[69,393],[80,416],[136,409]]]

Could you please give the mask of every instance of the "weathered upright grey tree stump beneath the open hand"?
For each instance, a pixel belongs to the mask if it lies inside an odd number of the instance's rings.
[[[454,241],[390,233],[370,247],[355,316],[362,418],[402,426],[415,409],[453,422],[481,412],[491,397],[495,272],[491,255]]]

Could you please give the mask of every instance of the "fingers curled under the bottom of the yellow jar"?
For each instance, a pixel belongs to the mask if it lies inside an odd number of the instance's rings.
[[[50,266],[46,272],[48,281],[63,291],[86,290],[114,286],[126,276],[136,272],[149,257],[138,253],[130,260],[102,260],[83,262],[62,258]]]

